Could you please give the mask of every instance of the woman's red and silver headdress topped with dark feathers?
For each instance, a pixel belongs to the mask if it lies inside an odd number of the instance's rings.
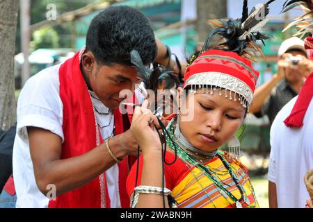
[[[253,97],[259,73],[252,68],[250,60],[253,51],[261,51],[256,45],[257,40],[266,40],[269,36],[260,33],[260,29],[268,22],[268,5],[274,0],[252,8],[248,13],[248,1],[243,1],[241,19],[211,20],[215,29],[204,42],[199,56],[191,57],[190,65],[186,69],[184,89],[207,89],[207,93],[226,89],[225,96],[232,99],[231,92],[239,96],[243,107],[247,108]],[[208,50],[211,37],[219,34],[223,42]],[[263,42],[264,44],[264,42]],[[236,97],[236,96],[235,96]],[[236,100],[236,98],[234,98]]]

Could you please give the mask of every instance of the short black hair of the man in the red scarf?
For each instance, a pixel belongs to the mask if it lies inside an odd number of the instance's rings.
[[[86,51],[102,65],[131,65],[130,53],[138,51],[144,65],[157,56],[157,43],[150,22],[128,6],[111,6],[90,23]]]

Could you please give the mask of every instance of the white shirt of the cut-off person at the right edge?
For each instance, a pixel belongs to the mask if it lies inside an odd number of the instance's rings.
[[[283,121],[291,113],[296,96],[278,113],[271,127],[268,180],[276,185],[278,207],[303,208],[310,196],[304,176],[313,169],[313,99],[302,128],[288,128]]]

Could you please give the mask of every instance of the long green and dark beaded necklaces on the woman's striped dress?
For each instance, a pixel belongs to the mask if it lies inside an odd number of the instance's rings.
[[[224,197],[225,196],[229,196],[234,201],[234,203],[236,204],[237,208],[241,208],[242,207],[242,205],[240,203],[242,200],[244,200],[244,202],[246,202],[247,205],[250,205],[250,200],[248,199],[248,196],[245,195],[246,194],[245,190],[243,189],[242,185],[240,184],[239,179],[236,176],[236,173],[234,173],[232,171],[233,167],[226,160],[224,160],[224,158],[222,157],[221,153],[218,151],[216,153],[216,155],[223,162],[223,165],[224,165],[224,167],[226,169],[226,173],[224,171],[223,174],[222,173],[216,173],[216,171],[213,171],[209,166],[201,164],[197,157],[195,157],[195,156],[191,155],[190,153],[187,153],[186,151],[184,151],[184,149],[181,148],[177,144],[177,142],[179,142],[179,141],[178,141],[177,138],[175,138],[175,133],[174,133],[175,129],[173,128],[173,125],[174,125],[174,119],[172,119],[172,121],[168,124],[168,127],[167,127],[167,130],[168,130],[169,134],[166,135],[166,143],[168,144],[168,146],[170,146],[172,151],[176,151],[177,152],[177,155],[184,162],[184,164],[187,166],[187,163],[188,163],[191,166],[194,166],[194,167],[197,167],[198,169],[200,169],[200,171],[202,171],[202,173],[204,173],[204,175],[207,176],[207,178],[209,178],[212,182],[214,182],[214,185],[216,186],[216,188],[218,188],[220,190],[220,193]],[[188,169],[191,171],[190,167],[188,167]],[[191,173],[193,173],[193,171],[191,171]],[[222,185],[222,183],[224,185],[226,185],[223,182],[223,180],[220,180],[220,178],[218,176],[214,176],[214,175],[226,175],[227,173],[230,173],[230,176],[232,177],[232,180],[235,182],[236,187],[239,189],[239,191],[241,193],[241,198],[239,198],[239,199],[236,198],[230,191],[225,189],[225,187]],[[194,173],[193,173],[193,176],[195,176]],[[198,178],[196,176],[195,176],[195,179],[200,183],[200,181],[198,180]],[[227,186],[230,186],[230,185],[227,185]],[[201,187],[202,187],[202,189],[204,189],[204,187],[202,185],[201,185]],[[251,188],[252,194],[253,194],[253,196],[255,198],[254,191],[253,191],[252,187],[250,187],[250,188]],[[204,193],[207,195],[205,190],[204,190]],[[209,198],[209,200],[211,200],[211,199]],[[226,198],[226,200],[227,200],[227,198]],[[256,203],[255,203],[255,205],[256,205]],[[255,205],[252,206],[252,207],[255,207]],[[214,205],[214,207],[215,207],[215,205]]]

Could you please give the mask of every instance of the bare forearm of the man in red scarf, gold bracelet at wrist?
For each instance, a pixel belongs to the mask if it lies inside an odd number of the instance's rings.
[[[125,156],[118,143],[111,143],[110,148],[118,159]],[[47,185],[54,185],[59,196],[88,184],[115,163],[104,143],[83,155],[49,162],[44,170],[40,170],[40,177],[36,181],[43,194],[49,191]]]

